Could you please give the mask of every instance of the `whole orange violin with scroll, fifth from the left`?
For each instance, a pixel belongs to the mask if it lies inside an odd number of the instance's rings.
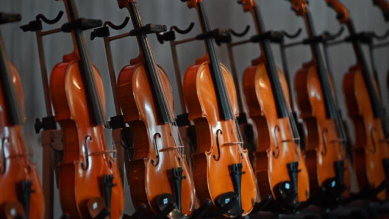
[[[255,0],[240,0],[244,11],[254,18],[256,31],[266,30]],[[308,200],[309,178],[300,136],[291,110],[289,89],[282,71],[277,68],[270,39],[260,41],[261,56],[252,61],[243,75],[243,91],[249,116],[256,125],[255,175],[262,198],[272,195],[283,208],[298,208]]]

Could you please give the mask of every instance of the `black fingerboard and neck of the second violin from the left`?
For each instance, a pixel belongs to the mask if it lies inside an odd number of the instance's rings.
[[[67,0],[65,5],[67,6],[67,11],[70,16],[70,20],[75,20],[79,18],[74,0]],[[88,51],[85,46],[84,35],[79,29],[74,29],[72,32],[76,45],[75,50],[78,51],[80,59],[79,66],[81,70],[81,77],[85,86],[85,94],[88,101],[90,116],[92,118],[91,121],[95,125],[106,125],[103,107],[101,105],[98,90],[96,88],[97,85],[94,77],[94,72],[92,70],[92,66],[88,57]]]

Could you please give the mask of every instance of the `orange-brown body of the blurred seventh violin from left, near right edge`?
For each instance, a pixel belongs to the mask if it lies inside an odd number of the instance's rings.
[[[377,84],[375,88],[378,90]],[[344,76],[343,90],[348,114],[355,127],[354,153],[358,183],[360,188],[370,184],[375,188],[386,179],[383,159],[389,158],[389,144],[385,140],[382,121],[374,117],[362,69],[358,65],[351,67]],[[381,200],[388,198],[385,190],[377,197]]]

